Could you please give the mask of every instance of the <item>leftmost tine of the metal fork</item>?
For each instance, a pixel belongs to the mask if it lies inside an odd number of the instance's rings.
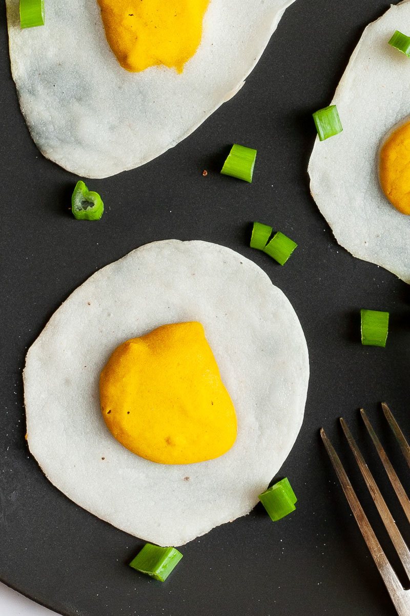
[[[339,456],[337,456],[337,453],[326,436],[323,428],[320,429],[320,436],[326,447],[331,463],[333,464],[333,468],[336,471],[337,478],[339,479],[345,493],[347,502],[350,505],[350,509],[352,509],[352,513],[356,518],[360,532],[366,541],[366,545],[368,546],[371,556],[376,563],[376,567],[379,569],[379,573],[382,576],[382,580],[385,583],[388,594],[390,594],[390,598],[393,601],[398,616],[410,616],[410,597],[406,595],[406,591],[403,590],[403,586],[401,586],[401,583],[393,571],[392,565],[388,562],[385,553],[382,550],[382,547],[380,546],[380,543],[377,540],[377,537],[366,517],[366,514],[360,505],[355,491],[353,490],[349,477],[347,477],[342,463],[339,460]]]

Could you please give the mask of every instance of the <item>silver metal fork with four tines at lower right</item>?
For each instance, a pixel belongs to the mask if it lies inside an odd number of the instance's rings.
[[[408,442],[404,438],[403,432],[401,432],[401,429],[399,428],[396,420],[393,418],[393,415],[390,412],[389,408],[387,407],[387,404],[385,404],[384,402],[382,402],[382,409],[383,409],[385,418],[387,419],[388,424],[390,425],[390,428],[392,428],[392,431],[396,439],[398,440],[398,444],[400,445],[401,451],[403,452],[403,455],[406,458],[406,461],[410,466],[410,447],[408,445]],[[398,476],[396,475],[392,464],[388,460],[385,450],[380,444],[380,441],[376,436],[376,432],[374,432],[374,429],[372,428],[371,423],[369,422],[369,419],[366,416],[365,411],[361,409],[360,413],[363,418],[363,421],[365,421],[366,428],[368,429],[371,439],[373,440],[377,453],[380,456],[380,460],[382,461],[384,465],[388,478],[390,479],[390,482],[392,482],[392,486],[396,492],[396,495],[398,496],[398,499],[400,500],[401,506],[404,509],[404,513],[406,514],[407,519],[410,522],[410,500],[408,496],[406,495],[406,492],[404,492],[403,485],[401,485],[401,482],[398,479]],[[340,421],[342,424],[342,429],[344,431],[345,437],[347,438],[347,442],[349,442],[350,448],[352,449],[352,452],[356,458],[357,464],[360,468],[361,474],[363,475],[366,481],[366,484],[369,488],[369,492],[371,493],[374,503],[376,504],[377,510],[379,511],[380,517],[382,518],[382,521],[384,522],[388,535],[390,536],[390,539],[392,540],[393,545],[395,546],[398,556],[400,557],[401,563],[403,564],[404,570],[406,571],[406,575],[408,576],[410,580],[410,551],[409,551],[409,548],[404,542],[403,537],[400,534],[400,531],[396,527],[396,523],[393,520],[392,514],[390,514],[390,511],[388,510],[387,505],[384,501],[384,498],[381,495],[380,490],[377,487],[377,484],[375,480],[373,479],[373,476],[371,472],[369,471],[368,466],[363,456],[361,455],[360,450],[358,449],[357,444],[355,443],[355,440],[352,437],[352,434],[349,431],[349,428],[347,428],[347,425],[344,419],[341,418]],[[385,583],[388,594],[390,594],[390,598],[393,601],[396,611],[399,616],[410,616],[410,590],[404,590],[403,586],[401,585],[400,580],[398,579],[398,577],[396,576],[396,573],[394,572],[392,568],[392,565],[390,565],[390,562],[388,562],[387,557],[385,556],[385,553],[382,550],[382,547],[380,546],[380,543],[377,540],[376,535],[373,532],[373,529],[368,521],[368,518],[366,517],[366,514],[360,505],[360,502],[355,494],[355,491],[353,490],[352,484],[349,481],[349,477],[347,477],[347,474],[342,466],[342,463],[339,460],[339,456],[337,456],[337,453],[335,452],[333,445],[331,444],[328,437],[326,436],[323,428],[320,429],[320,436],[323,440],[323,443],[325,444],[326,450],[329,454],[329,458],[331,460],[331,463],[333,464],[334,470],[336,471],[337,478],[339,479],[339,482],[341,483],[341,486],[343,488],[347,501],[349,502],[350,509],[352,509],[352,513],[356,518],[361,534],[363,535],[363,538],[366,541],[366,544],[370,550],[373,560],[376,563],[377,569],[379,569],[380,575],[383,578],[383,582]]]

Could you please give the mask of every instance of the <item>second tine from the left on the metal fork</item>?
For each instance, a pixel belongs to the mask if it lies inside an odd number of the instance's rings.
[[[380,517],[382,518],[383,524],[386,527],[388,532],[388,536],[393,542],[393,545],[396,548],[396,552],[398,553],[401,563],[403,564],[404,569],[406,570],[407,576],[410,578],[410,550],[406,545],[403,537],[401,536],[400,530],[398,530],[396,526],[396,522],[393,519],[392,514],[388,510],[388,507],[385,503],[385,500],[382,496],[382,493],[379,490],[379,487],[376,484],[376,481],[373,478],[373,475],[369,471],[368,465],[361,455],[359,448],[353,439],[352,433],[341,417],[340,422],[342,424],[342,429],[344,431],[347,442],[349,443],[350,449],[353,452],[353,455],[356,458],[358,467],[360,468],[360,472],[363,475],[363,479],[365,479],[366,485],[369,488],[369,492],[374,500],[374,504],[377,507],[377,511],[379,511]]]

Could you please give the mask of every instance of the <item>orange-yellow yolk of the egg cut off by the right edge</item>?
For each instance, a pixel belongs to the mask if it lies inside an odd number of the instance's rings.
[[[410,122],[394,131],[380,150],[380,184],[403,214],[410,214]]]

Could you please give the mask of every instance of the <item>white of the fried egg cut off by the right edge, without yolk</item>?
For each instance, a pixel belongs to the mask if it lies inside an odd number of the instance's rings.
[[[339,244],[410,283],[410,217],[380,184],[382,147],[409,120],[410,59],[388,44],[396,30],[410,33],[409,0],[390,7],[361,36],[332,101],[343,132],[317,139],[309,174],[312,196]]]

